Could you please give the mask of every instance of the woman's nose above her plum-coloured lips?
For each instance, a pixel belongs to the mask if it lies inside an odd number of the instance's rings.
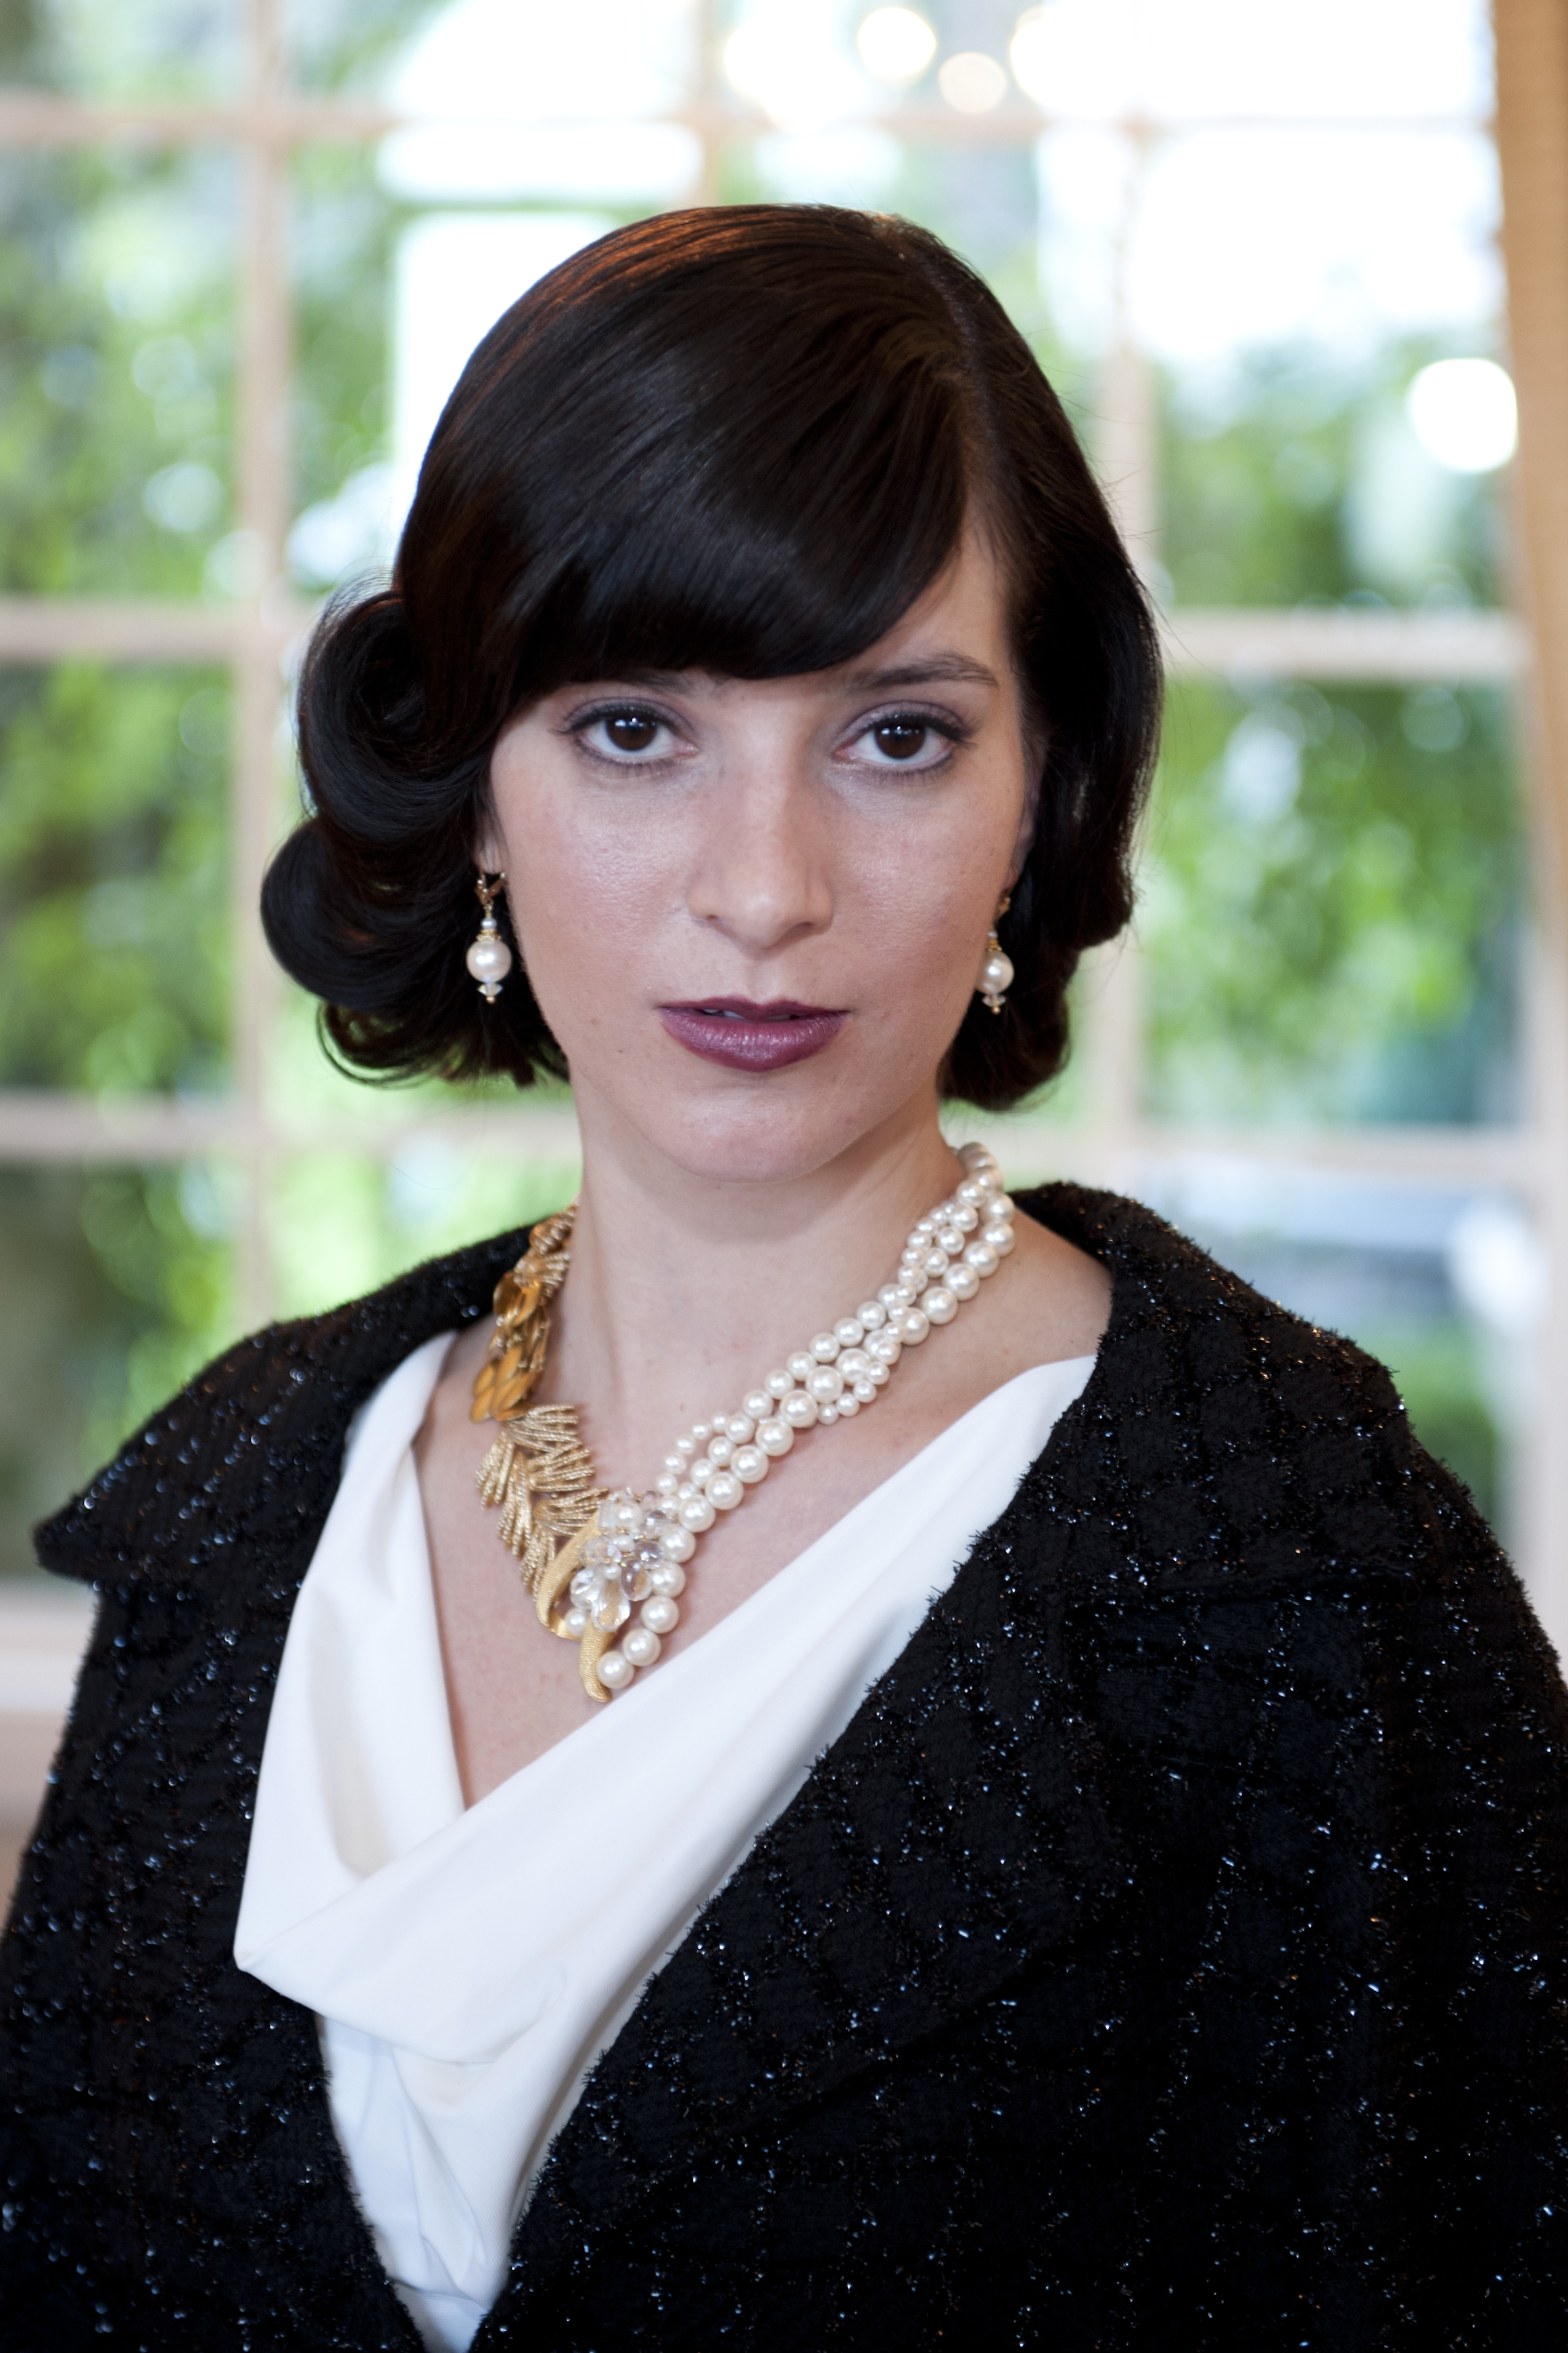
[[[778,744],[731,762],[686,885],[696,922],[771,955],[832,922],[830,826],[811,779]]]

